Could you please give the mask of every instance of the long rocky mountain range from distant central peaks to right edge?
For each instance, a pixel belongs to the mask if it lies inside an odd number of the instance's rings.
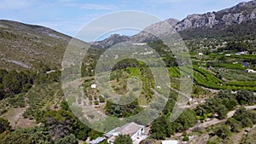
[[[218,35],[220,32],[225,37],[225,32],[230,31],[230,29],[236,29],[240,27],[241,32],[247,34],[247,32],[242,32],[241,27],[250,26],[252,28],[254,20],[256,18],[256,0],[250,2],[238,3],[236,6],[230,9],[223,9],[218,12],[208,12],[206,14],[189,14],[183,20],[177,21],[174,19],[166,20],[171,26],[173,26],[172,32],[166,32],[166,27],[163,25],[163,21],[155,23],[144,29],[143,32],[139,32],[137,35],[131,37],[125,37],[125,39],[115,39],[115,42],[125,42],[132,41],[134,43],[147,43],[152,40],[156,40],[150,32],[158,32],[162,34],[173,34],[179,32],[181,37],[185,39],[191,39],[194,37],[212,37]],[[253,29],[247,29],[249,34],[253,34]],[[237,32],[237,31],[236,31]],[[107,42],[108,38],[96,42],[101,45],[101,48],[107,48],[108,46],[104,43]],[[115,43],[113,43],[115,44]]]

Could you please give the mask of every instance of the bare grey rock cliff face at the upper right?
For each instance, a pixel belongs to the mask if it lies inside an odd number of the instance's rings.
[[[207,14],[190,14],[174,27],[175,32],[187,28],[230,26],[256,18],[256,1],[239,3],[230,9]]]

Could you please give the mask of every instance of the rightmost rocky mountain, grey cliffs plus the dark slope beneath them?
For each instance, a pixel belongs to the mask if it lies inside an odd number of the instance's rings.
[[[183,39],[195,37],[244,37],[255,33],[256,0],[207,14],[191,14],[174,27]],[[254,26],[254,27],[253,27]]]

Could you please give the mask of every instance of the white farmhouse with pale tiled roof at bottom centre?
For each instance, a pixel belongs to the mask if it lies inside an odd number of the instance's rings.
[[[110,130],[107,134],[105,134],[105,136],[108,138],[108,143],[113,143],[118,135],[130,135],[131,140],[135,141],[137,137],[143,134],[145,134],[145,126],[131,122]]]

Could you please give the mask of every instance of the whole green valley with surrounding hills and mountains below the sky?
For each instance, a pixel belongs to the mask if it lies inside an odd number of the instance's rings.
[[[141,135],[135,137],[140,144],[255,143],[255,9],[253,0],[217,12],[189,14],[183,20],[165,20],[173,26],[172,32],[162,27],[164,21],[145,28],[179,35],[189,49],[176,49],[179,53],[145,31],[133,36],[113,34],[93,43],[79,40],[90,44],[90,49],[80,66],[67,67],[62,62],[72,37],[44,26],[0,20],[0,143],[101,140],[97,143],[105,144],[112,140],[108,133],[133,123],[145,129],[143,140]],[[178,48],[178,44],[171,45]],[[116,55],[106,53],[112,48],[117,48]],[[127,49],[143,59],[119,60],[128,55]],[[102,57],[106,59],[99,64]],[[191,60],[191,65],[179,61],[180,57]],[[161,73],[159,61],[167,76]],[[77,67],[81,69],[73,71]],[[184,79],[191,81],[190,89]],[[183,112],[170,120],[177,108]],[[97,118],[105,119],[98,122]],[[112,135],[113,144],[137,142],[132,136]]]

